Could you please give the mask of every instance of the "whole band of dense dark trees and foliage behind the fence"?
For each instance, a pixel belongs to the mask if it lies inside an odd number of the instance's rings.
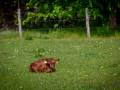
[[[17,27],[17,7],[18,0],[0,1],[1,28]],[[85,27],[85,20],[81,20],[85,19],[85,8],[89,8],[91,27],[120,26],[119,0],[20,0],[20,8],[23,28],[28,29]]]

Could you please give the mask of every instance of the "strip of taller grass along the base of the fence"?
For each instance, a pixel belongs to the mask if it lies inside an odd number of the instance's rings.
[[[109,37],[119,37],[120,31],[110,31],[111,34],[108,35]],[[96,29],[91,29],[90,31],[92,38],[98,37],[108,37],[108,36],[99,36]],[[0,39],[18,39],[19,32],[15,30],[7,30],[7,31],[0,31]],[[86,29],[57,29],[57,30],[49,30],[49,31],[39,31],[39,30],[27,30],[22,31],[22,38],[27,40],[32,39],[80,39],[86,38]]]

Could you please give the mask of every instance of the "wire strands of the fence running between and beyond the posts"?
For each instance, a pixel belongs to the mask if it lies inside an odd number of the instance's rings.
[[[103,22],[109,22],[109,19],[89,19],[90,29],[105,28],[102,26]],[[120,19],[116,19],[117,28],[120,29]],[[15,21],[5,21],[0,29],[15,29],[18,30],[18,26],[15,25]],[[29,21],[25,25],[22,25],[23,30],[55,30],[54,25],[58,24],[57,29],[86,29],[86,19],[64,19],[64,20],[46,20],[46,21]],[[109,26],[109,28],[111,28]]]

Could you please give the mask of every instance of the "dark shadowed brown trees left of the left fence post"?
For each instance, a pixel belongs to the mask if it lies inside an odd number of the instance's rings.
[[[11,22],[14,17],[14,12],[16,6],[16,0],[1,0],[0,1],[0,27],[4,27],[5,29],[8,29],[9,24],[12,24],[14,22]],[[7,23],[7,22],[10,23]]]

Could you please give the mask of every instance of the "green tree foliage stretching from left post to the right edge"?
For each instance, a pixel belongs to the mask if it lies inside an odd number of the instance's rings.
[[[25,25],[29,21],[47,21],[50,19],[58,19],[60,21],[53,23],[56,28],[61,25],[61,20],[71,20],[76,18],[85,18],[85,8],[89,8],[90,18],[97,19],[111,19],[115,14],[115,10],[120,8],[120,1],[116,0],[72,0],[72,1],[59,1],[59,0],[30,0],[26,4],[27,9],[36,8],[32,12],[28,12],[27,18],[23,21]],[[110,13],[110,14],[109,14]],[[63,27],[63,26],[62,26]]]

